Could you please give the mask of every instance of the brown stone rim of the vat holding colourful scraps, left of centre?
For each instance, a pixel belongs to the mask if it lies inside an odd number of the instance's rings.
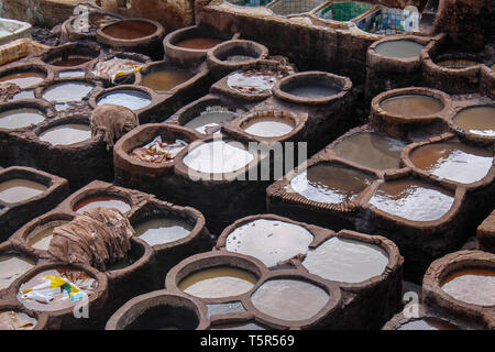
[[[146,123],[123,135],[113,146],[113,166],[125,172],[140,175],[154,175],[156,177],[174,173],[176,157],[161,163],[146,163],[130,153],[139,146],[151,142],[157,134],[183,139],[188,145],[204,136],[190,129],[172,123]],[[187,147],[187,146],[186,146]],[[186,148],[185,147],[185,148]]]

